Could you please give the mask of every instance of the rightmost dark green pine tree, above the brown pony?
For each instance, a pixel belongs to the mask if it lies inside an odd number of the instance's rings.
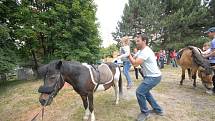
[[[210,25],[209,11],[200,6],[200,1],[166,0],[165,18],[163,25],[163,42],[161,46],[178,43],[182,48],[187,45],[201,47],[205,39],[201,39],[203,31]],[[196,40],[202,40],[201,42]]]

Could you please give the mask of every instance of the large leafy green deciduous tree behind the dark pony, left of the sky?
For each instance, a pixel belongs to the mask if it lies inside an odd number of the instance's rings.
[[[54,59],[95,63],[101,39],[92,0],[16,0],[0,3],[1,36],[19,57],[19,65],[38,66]],[[5,31],[7,30],[7,31]],[[15,45],[15,46],[14,46]],[[9,56],[10,58],[10,56]]]

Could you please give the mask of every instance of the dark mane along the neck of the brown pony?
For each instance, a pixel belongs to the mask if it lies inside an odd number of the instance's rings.
[[[213,71],[212,67],[211,67],[209,61],[201,55],[201,51],[199,50],[199,48],[194,47],[194,46],[188,46],[188,48],[192,51],[192,57],[193,57],[194,62],[198,66],[203,67],[206,70],[207,74],[211,74]],[[195,48],[197,48],[198,50],[196,50]]]

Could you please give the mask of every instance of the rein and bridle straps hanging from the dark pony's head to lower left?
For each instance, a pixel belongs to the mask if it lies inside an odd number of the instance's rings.
[[[62,75],[60,73],[60,77],[58,77],[57,82],[55,83],[54,88],[56,88],[58,86],[59,78],[61,78],[64,81],[64,79],[63,79],[63,77],[62,77]],[[46,77],[44,79],[46,79]],[[48,102],[50,101],[50,99],[54,97],[54,95],[55,95],[55,90],[49,95],[49,98],[48,98],[48,100],[46,100],[44,106],[42,106],[42,108],[40,109],[40,111],[31,119],[31,121],[36,121],[36,118],[39,116],[40,112],[42,112],[42,121],[43,121],[45,106],[48,104]]]

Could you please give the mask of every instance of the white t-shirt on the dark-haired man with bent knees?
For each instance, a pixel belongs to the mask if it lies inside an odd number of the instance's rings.
[[[161,71],[157,66],[157,61],[154,52],[146,46],[143,50],[137,52],[137,58],[143,59],[141,65],[143,75],[147,77],[158,77],[161,76]]]

